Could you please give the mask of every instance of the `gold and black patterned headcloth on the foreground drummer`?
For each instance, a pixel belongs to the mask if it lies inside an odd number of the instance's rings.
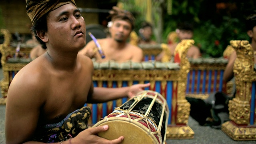
[[[39,20],[44,14],[59,8],[65,4],[73,3],[76,6],[74,0],[26,0],[27,14],[34,25],[34,22]]]

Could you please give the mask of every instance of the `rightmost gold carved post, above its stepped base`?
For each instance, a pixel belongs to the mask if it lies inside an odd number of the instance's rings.
[[[246,40],[230,41],[236,50],[234,62],[234,76],[236,83],[236,97],[229,101],[230,119],[236,124],[249,124],[250,99],[252,81],[255,81],[254,52],[252,46]]]

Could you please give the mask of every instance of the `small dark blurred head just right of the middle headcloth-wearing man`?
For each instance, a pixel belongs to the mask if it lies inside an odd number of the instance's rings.
[[[152,25],[149,22],[142,22],[139,32],[144,40],[150,40],[152,36]]]

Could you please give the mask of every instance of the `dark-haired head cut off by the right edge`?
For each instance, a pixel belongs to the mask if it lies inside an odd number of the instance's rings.
[[[248,36],[256,41],[256,10],[246,18],[246,30]]]

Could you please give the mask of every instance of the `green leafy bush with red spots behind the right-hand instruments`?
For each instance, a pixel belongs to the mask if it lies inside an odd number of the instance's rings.
[[[203,22],[194,30],[195,45],[203,57],[221,57],[230,40],[248,40],[243,24],[237,18],[223,17],[219,26],[212,21]]]

